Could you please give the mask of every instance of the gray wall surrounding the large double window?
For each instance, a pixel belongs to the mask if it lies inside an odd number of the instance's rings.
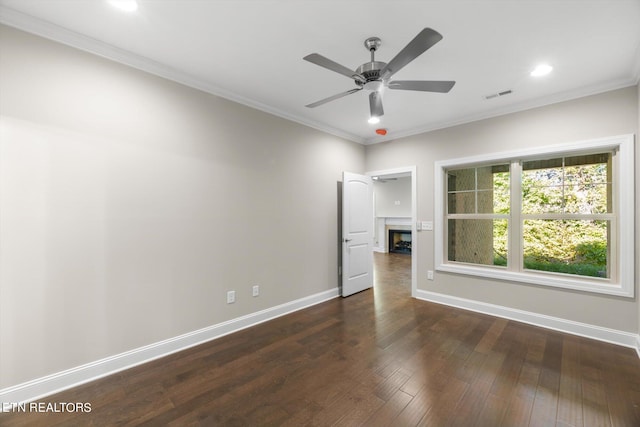
[[[638,109],[638,89],[629,87],[367,146],[366,166],[367,170],[381,170],[416,165],[418,219],[433,220],[435,161],[637,134]],[[640,164],[638,151],[636,144],[636,168]],[[638,201],[638,173],[635,182]],[[636,233],[640,230],[637,217]],[[437,272],[434,281],[427,281],[427,270],[435,268],[433,233],[421,232],[417,236],[418,289],[620,331],[635,333],[639,329],[637,297],[618,298]],[[636,266],[639,257],[640,250],[636,248]],[[636,295],[638,292],[636,288]]]

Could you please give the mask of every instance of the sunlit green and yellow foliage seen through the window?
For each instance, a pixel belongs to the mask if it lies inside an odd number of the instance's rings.
[[[607,164],[540,167],[522,174],[525,214],[609,212]],[[535,162],[533,162],[535,163]],[[551,162],[549,162],[551,163]],[[509,212],[509,174],[494,174],[494,212]],[[494,221],[494,265],[506,265],[506,221]],[[523,223],[524,267],[603,277],[607,270],[607,221],[531,219]]]

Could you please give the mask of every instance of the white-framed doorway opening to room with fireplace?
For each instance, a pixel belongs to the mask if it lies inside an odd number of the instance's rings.
[[[371,171],[366,175],[373,179],[374,203],[380,207],[374,209],[375,262],[385,265],[386,271],[394,271],[393,268],[389,270],[389,265],[397,266],[396,271],[406,270],[407,263],[410,263],[411,296],[415,297],[418,254],[416,167]],[[392,249],[394,246],[389,240],[389,235],[393,235],[389,230],[395,230],[404,236],[401,240],[403,243],[400,244],[404,249],[403,253],[389,250],[389,244]]]

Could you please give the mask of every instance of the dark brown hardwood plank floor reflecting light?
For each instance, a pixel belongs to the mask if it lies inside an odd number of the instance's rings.
[[[634,350],[410,298],[410,257],[374,290],[1,414],[2,426],[640,426]]]

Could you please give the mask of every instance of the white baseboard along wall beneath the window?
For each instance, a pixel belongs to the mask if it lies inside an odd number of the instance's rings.
[[[598,341],[604,341],[624,347],[634,348],[638,353],[638,357],[640,357],[640,335],[631,332],[603,328],[601,326],[574,322],[573,320],[547,316],[544,314],[518,310],[515,308],[509,308],[500,305],[488,304],[485,302],[454,297],[451,295],[445,295],[421,289],[418,289],[416,291],[416,298],[435,302],[438,304],[462,308],[464,310],[489,314],[491,316],[516,320],[518,322],[528,323],[530,325],[540,326],[547,329],[553,329],[555,331],[566,332],[572,335],[579,335],[581,337],[592,338]]]

